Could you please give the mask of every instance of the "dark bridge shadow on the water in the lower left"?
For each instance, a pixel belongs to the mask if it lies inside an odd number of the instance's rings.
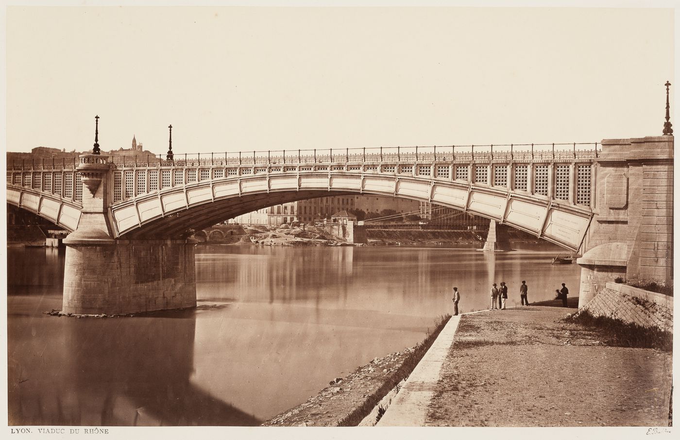
[[[259,425],[192,384],[197,313],[10,324],[10,425]]]

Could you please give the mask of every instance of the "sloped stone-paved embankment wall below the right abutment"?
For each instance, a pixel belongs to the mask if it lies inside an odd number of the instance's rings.
[[[647,290],[607,283],[579,313],[619,318],[643,327],[658,327],[673,332],[673,297]]]

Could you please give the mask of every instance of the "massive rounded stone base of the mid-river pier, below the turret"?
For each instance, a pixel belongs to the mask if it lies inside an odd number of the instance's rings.
[[[196,306],[194,243],[64,240],[63,314],[115,315]]]

